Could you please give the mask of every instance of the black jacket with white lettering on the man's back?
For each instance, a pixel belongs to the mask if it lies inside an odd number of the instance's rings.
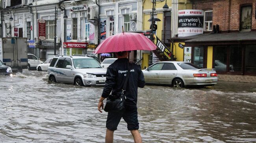
[[[110,92],[112,95],[121,94],[122,87],[126,78],[127,72],[127,58],[117,59],[114,63],[109,65],[106,74],[106,85],[102,92],[102,97],[107,98]],[[136,106],[138,87],[145,86],[145,80],[141,67],[135,63],[129,63],[130,75],[126,85],[126,105]]]

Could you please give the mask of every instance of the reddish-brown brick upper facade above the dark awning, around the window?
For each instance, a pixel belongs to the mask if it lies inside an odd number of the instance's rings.
[[[240,7],[252,5],[252,29],[256,30],[256,0],[195,0],[193,9],[213,10],[213,25],[220,31],[236,31],[240,28]]]

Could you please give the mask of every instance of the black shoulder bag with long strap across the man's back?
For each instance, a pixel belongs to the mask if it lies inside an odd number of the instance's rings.
[[[104,111],[106,111],[106,112],[122,112],[124,110],[124,103],[125,103],[125,100],[126,100],[126,97],[124,95],[124,91],[126,89],[129,74],[130,74],[130,68],[129,68],[129,63],[128,63],[128,71],[127,71],[127,74],[126,74],[124,85],[122,87],[122,93],[120,95],[110,94],[107,98],[107,102],[106,102],[106,105],[104,107]]]

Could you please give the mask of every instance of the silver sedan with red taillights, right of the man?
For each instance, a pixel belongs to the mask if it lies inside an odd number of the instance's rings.
[[[158,62],[143,70],[146,83],[165,84],[173,87],[189,85],[209,86],[217,84],[215,69],[200,69],[193,63]]]

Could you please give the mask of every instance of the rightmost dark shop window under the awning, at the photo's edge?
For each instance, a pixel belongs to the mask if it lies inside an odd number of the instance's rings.
[[[247,45],[245,50],[245,72],[256,73],[256,45]]]

